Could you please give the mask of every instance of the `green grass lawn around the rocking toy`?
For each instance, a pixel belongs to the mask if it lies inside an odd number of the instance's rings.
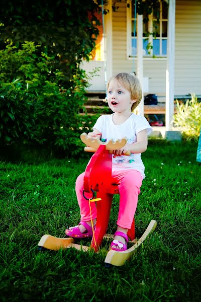
[[[139,238],[157,228],[125,266],[105,268],[100,253],[37,249],[44,234],[64,237],[79,222],[74,191],[86,159],[2,161],[1,301],[200,301],[200,165],[196,144],[149,141],[146,179],[135,215]],[[116,230],[115,195],[108,233]],[[87,242],[86,244],[90,244]]]

